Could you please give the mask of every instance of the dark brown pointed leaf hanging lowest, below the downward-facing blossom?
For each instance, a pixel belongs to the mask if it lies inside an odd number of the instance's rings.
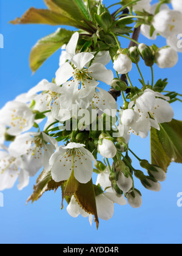
[[[98,229],[99,220],[96,210],[95,191],[92,179],[86,184],[79,183],[78,190],[75,192],[75,198],[81,208],[83,208],[87,213],[95,216],[96,227]]]

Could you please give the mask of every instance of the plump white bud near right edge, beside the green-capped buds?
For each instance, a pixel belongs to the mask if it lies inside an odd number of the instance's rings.
[[[155,54],[155,61],[160,68],[172,68],[178,62],[178,54],[171,47],[161,48]]]

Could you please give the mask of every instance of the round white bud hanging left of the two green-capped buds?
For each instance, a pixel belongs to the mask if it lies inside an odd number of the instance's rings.
[[[132,60],[127,54],[119,54],[113,63],[113,68],[118,74],[127,74],[132,70]]]

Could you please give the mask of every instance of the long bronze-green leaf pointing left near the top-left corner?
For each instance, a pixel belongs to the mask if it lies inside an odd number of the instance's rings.
[[[83,28],[84,26],[78,21],[73,20],[66,15],[65,13],[56,13],[52,12],[48,9],[35,9],[30,8],[27,12],[22,15],[21,18],[16,18],[14,21],[10,21],[10,23],[16,24],[47,24],[47,25],[67,25],[74,26],[78,28]]]

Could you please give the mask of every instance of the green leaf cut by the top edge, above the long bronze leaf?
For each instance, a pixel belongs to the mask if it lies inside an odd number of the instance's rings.
[[[75,20],[84,20],[86,16],[89,15],[88,13],[86,14],[87,10],[84,8],[82,0],[52,0],[52,2],[69,13]]]

